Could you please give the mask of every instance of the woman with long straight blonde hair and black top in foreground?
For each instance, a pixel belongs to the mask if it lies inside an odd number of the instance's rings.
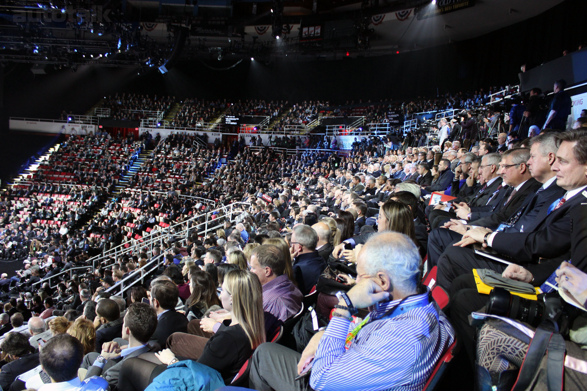
[[[210,339],[187,333],[173,333],[167,339],[167,346],[170,348],[155,355],[166,365],[175,361],[176,355],[197,360],[217,370],[225,381],[230,382],[242,365],[251,358],[257,346],[265,342],[262,295],[261,282],[257,275],[240,269],[228,272],[224,277],[220,299],[230,318],[222,322]],[[146,360],[141,362],[141,368],[149,365],[147,363],[149,362]]]

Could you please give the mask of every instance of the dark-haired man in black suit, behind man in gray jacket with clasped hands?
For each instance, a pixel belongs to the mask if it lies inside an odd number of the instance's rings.
[[[157,312],[158,323],[149,343],[158,343],[161,349],[171,334],[187,332],[187,318],[175,309],[179,294],[177,285],[167,279],[151,282],[151,305]]]

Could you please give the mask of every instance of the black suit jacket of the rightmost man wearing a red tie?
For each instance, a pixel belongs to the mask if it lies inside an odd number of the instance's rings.
[[[571,256],[571,221],[583,218],[572,215],[574,207],[587,202],[582,193],[576,194],[556,210],[548,214],[549,206],[560,197],[553,195],[545,201],[535,218],[533,230],[524,232],[498,232],[492,248],[500,254],[517,259],[534,276],[534,285],[542,282],[558,265]],[[540,258],[548,259],[538,265]],[[574,263],[574,262],[573,262]]]

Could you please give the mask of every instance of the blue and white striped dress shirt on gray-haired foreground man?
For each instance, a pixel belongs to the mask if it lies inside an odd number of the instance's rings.
[[[423,295],[407,298],[403,305]],[[371,313],[376,320],[363,326],[349,350],[346,336],[355,324],[333,317],[316,350],[310,386],[316,391],[421,390],[454,342],[454,331],[434,301],[377,319],[399,302],[380,303]]]

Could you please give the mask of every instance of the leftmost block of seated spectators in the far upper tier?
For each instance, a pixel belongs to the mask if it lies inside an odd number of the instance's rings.
[[[119,120],[137,120],[149,117],[144,112],[167,113],[175,102],[175,97],[141,94],[116,93],[104,100],[102,107],[110,109],[110,117]]]

